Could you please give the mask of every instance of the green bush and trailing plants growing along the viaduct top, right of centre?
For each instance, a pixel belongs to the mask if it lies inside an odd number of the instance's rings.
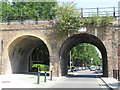
[[[66,33],[69,29],[78,30],[82,26],[93,25],[95,27],[109,26],[113,18],[106,14],[100,16],[93,13],[92,17],[82,17],[80,10],[74,3],[62,3],[54,8],[56,15],[55,29]]]

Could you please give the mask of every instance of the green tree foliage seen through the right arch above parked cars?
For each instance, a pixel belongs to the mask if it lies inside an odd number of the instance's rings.
[[[95,47],[87,43],[75,46],[71,50],[71,58],[73,61],[77,60],[85,65],[101,65],[101,60]],[[91,59],[93,60],[91,61]]]

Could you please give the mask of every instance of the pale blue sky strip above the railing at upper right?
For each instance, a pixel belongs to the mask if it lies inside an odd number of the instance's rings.
[[[78,8],[118,7],[120,0],[57,0],[59,2],[74,2]]]

